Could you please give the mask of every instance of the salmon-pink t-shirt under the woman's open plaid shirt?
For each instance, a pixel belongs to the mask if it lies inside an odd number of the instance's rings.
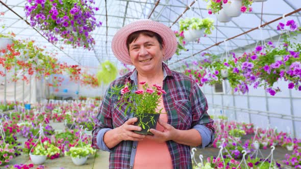
[[[163,106],[163,100],[161,100],[159,108],[163,108],[162,112],[166,112]],[[167,114],[161,114],[159,119],[167,123]],[[164,128],[157,123],[156,130],[163,131]],[[134,169],[140,168],[172,168],[171,156],[166,143],[157,143],[147,138],[139,141],[134,160]]]

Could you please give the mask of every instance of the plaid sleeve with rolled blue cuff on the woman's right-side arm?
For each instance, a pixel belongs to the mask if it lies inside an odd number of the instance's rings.
[[[213,127],[213,119],[207,113],[208,103],[203,92],[198,87],[197,83],[192,82],[190,92],[191,111],[192,111],[192,127],[196,129],[202,136],[202,145],[198,148],[211,146],[215,137],[215,129]]]

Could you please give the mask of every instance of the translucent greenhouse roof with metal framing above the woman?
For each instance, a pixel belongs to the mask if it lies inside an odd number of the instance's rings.
[[[24,6],[27,1],[6,0],[2,2],[22,18],[26,19]],[[191,8],[188,8],[190,4],[193,5]],[[298,9],[301,7],[301,1],[268,0],[264,3],[253,3],[253,12],[243,13],[239,17],[232,18],[232,20],[228,23],[217,22],[215,15],[209,15],[208,10],[206,9],[207,3],[205,1],[97,0],[95,6],[99,8],[99,10],[95,13],[96,19],[97,21],[101,21],[103,24],[101,27],[96,27],[96,30],[92,34],[96,41],[94,49],[92,50],[72,48],[70,45],[65,44],[54,45],[48,42],[37,31],[35,31],[33,27],[28,25],[24,20],[3,5],[1,5],[1,12],[5,12],[5,15],[1,16],[1,22],[5,24],[5,27],[4,29],[1,29],[0,32],[1,34],[13,32],[16,35],[16,39],[33,39],[38,45],[46,46],[49,51],[57,50],[59,61],[67,62],[68,64],[80,63],[82,66],[97,67],[99,63],[110,60],[113,63],[116,63],[118,68],[120,68],[120,66],[122,67],[122,63],[114,57],[111,50],[111,41],[114,34],[123,25],[141,18],[148,18],[150,16],[150,19],[152,20],[171,26],[173,31],[179,31],[179,24],[175,21],[177,21],[178,17],[186,11],[186,9],[188,9],[187,12],[185,12],[180,19],[186,17],[209,17],[214,19],[216,30],[214,30],[211,35],[200,38],[200,43],[190,42],[186,46],[189,51],[182,52],[179,56],[174,55],[171,60],[168,61],[170,66],[174,68],[183,64],[178,62],[179,60],[187,58],[186,61],[192,61],[199,58],[199,54],[190,57],[193,53],[204,50],[217,42],[234,37],[275,18],[282,17],[283,14],[287,14]],[[213,46],[206,50],[206,52],[215,54],[222,53],[225,50],[225,44],[227,44],[227,47],[230,50],[238,49],[243,52],[244,46],[246,45],[256,44],[261,39],[270,39],[278,36],[280,32],[277,31],[276,27],[279,22],[285,22],[285,19],[294,19],[299,25],[301,25],[300,16],[301,12],[292,14],[291,16],[264,26],[261,29],[262,32],[260,30],[255,30],[246,33],[227,41],[227,43]],[[61,46],[63,49],[60,49]]]

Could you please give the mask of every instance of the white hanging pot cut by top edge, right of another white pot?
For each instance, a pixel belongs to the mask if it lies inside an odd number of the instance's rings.
[[[229,17],[237,17],[241,14],[240,8],[242,0],[230,0],[227,4],[222,4],[224,12]]]

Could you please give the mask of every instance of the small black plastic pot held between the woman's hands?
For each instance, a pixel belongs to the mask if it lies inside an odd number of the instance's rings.
[[[158,119],[160,117],[160,114],[145,113],[144,116],[142,117],[142,119],[141,119],[141,117],[137,116],[136,114],[134,116],[138,118],[138,121],[136,123],[134,123],[134,125],[140,126],[142,128],[141,131],[134,131],[135,133],[144,134],[144,135],[146,135],[146,134],[154,135],[153,133],[149,132],[149,129],[151,129],[151,128],[156,129],[156,125],[157,125]],[[154,119],[153,123],[151,122],[151,119]],[[144,127],[140,122],[144,125]]]

